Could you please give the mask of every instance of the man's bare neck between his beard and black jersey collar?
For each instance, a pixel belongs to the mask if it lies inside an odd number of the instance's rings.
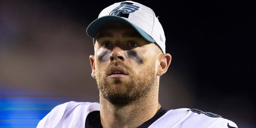
[[[103,128],[136,128],[160,109],[158,88],[125,106],[114,105],[100,95],[100,120]]]

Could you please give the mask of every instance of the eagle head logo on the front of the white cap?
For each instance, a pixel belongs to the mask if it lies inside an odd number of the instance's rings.
[[[116,7],[114,10],[112,10],[109,15],[128,18],[129,15],[127,14],[135,12],[136,10],[139,10],[139,8],[140,8],[139,6],[124,3]]]

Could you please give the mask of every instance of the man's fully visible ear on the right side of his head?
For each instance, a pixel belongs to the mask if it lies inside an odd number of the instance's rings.
[[[158,65],[158,70],[156,73],[158,76],[162,76],[164,73],[167,72],[171,64],[172,56],[168,53],[161,54],[159,60],[160,60],[160,64]]]

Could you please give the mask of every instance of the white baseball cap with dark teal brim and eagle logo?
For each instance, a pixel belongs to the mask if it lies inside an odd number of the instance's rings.
[[[156,42],[165,53],[164,30],[151,8],[133,1],[114,3],[100,12],[98,18],[87,27],[86,33],[95,38],[103,26],[111,23],[132,26],[145,40]]]

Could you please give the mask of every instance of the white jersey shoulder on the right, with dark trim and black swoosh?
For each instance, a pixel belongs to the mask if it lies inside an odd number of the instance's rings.
[[[197,109],[169,110],[149,128],[238,128],[231,120],[220,115]]]

